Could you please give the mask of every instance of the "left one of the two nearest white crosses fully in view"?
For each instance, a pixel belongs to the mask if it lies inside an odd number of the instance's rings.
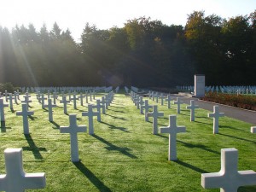
[[[70,151],[71,151],[71,161],[79,161],[79,143],[78,143],[78,132],[85,132],[86,126],[77,125],[77,115],[69,115],[69,126],[61,126],[61,133],[70,134]]]

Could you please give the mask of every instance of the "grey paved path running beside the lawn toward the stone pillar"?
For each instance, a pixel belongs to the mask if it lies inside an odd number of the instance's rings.
[[[172,96],[177,96],[177,95],[172,95]],[[228,116],[234,119],[239,119],[247,123],[256,125],[256,111],[249,111],[246,109],[234,108],[234,107],[222,105],[219,103],[205,102],[205,101],[198,100],[197,98],[190,98],[187,96],[180,96],[180,97],[182,97],[183,102],[186,104],[189,104],[190,100],[195,100],[195,104],[199,105],[199,108],[207,109],[209,111],[213,111],[213,106],[218,105],[219,112],[225,113],[225,116]]]

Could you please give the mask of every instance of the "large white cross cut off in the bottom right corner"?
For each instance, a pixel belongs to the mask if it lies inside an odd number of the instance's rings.
[[[201,174],[201,186],[204,189],[220,188],[221,192],[234,192],[240,186],[256,185],[256,172],[237,171],[238,150],[221,149],[221,169],[219,172]]]

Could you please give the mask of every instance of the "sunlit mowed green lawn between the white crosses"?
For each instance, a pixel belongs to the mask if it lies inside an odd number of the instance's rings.
[[[100,99],[102,95],[97,95]],[[22,96],[21,96],[22,97]],[[21,98],[20,97],[20,98]],[[146,98],[144,98],[146,99]],[[95,103],[90,102],[90,103]],[[157,104],[165,113],[159,126],[169,124],[172,109]],[[71,162],[70,137],[61,134],[59,126],[69,125],[68,115],[57,101],[54,122],[48,121],[47,108],[42,109],[32,95],[29,119],[30,135],[25,136],[22,118],[5,108],[5,125],[1,125],[0,174],[5,174],[5,148],[23,148],[23,166],[27,173],[45,172],[46,188],[26,191],[219,191],[203,189],[201,173],[220,170],[221,148],[237,148],[238,170],[256,171],[256,135],[250,133],[250,124],[228,117],[220,118],[219,134],[212,134],[212,119],[206,110],[197,109],[195,122],[189,121],[189,110],[182,105],[177,114],[177,125],[185,125],[186,132],[177,134],[177,161],[168,161],[168,134],[152,134],[151,122],[144,121],[130,96],[116,94],[113,103],[102,114],[102,122],[94,118],[95,135],[79,133],[79,163]],[[87,105],[87,104],[84,104]],[[87,125],[81,113],[86,106],[67,112],[76,113],[78,125]],[[238,191],[256,191],[256,186],[241,187]]]

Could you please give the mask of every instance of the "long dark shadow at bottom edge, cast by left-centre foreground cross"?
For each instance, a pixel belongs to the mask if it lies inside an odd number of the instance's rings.
[[[87,177],[90,182],[96,186],[97,189],[99,189],[99,191],[111,191],[104,183],[102,183],[98,177],[96,177],[95,174],[93,174],[93,172],[90,172],[90,170],[84,166],[82,162],[73,162],[73,165],[75,165],[79,171],[82,172],[84,176]]]

